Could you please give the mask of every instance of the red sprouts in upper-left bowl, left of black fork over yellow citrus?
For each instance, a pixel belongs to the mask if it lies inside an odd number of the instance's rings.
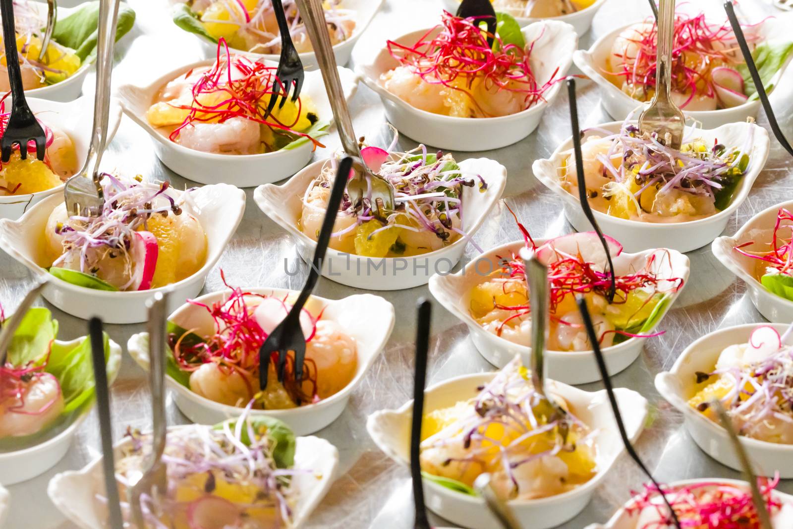
[[[182,128],[195,122],[223,123],[232,117],[243,117],[261,125],[306,138],[312,142],[315,149],[324,147],[305,132],[297,132],[292,129],[297,125],[303,109],[300,98],[297,98],[297,113],[295,113],[292,123],[278,121],[273,113],[266,116],[270,97],[275,94],[274,86],[277,86],[282,94],[286,92],[281,79],[278,79],[276,75],[277,70],[277,67],[267,66],[260,60],[251,60],[242,55],[232,55],[228,51],[226,40],[221,37],[217,44],[215,63],[193,85],[193,101],[190,102],[190,105],[169,103],[176,109],[187,110],[188,114],[182,121],[182,125],[175,128],[168,137],[171,141],[176,141]],[[189,77],[192,72],[192,70],[188,71],[185,78]],[[209,104],[201,102],[202,99],[207,101],[207,94],[219,94],[220,101],[214,102],[212,99]],[[311,118],[309,117],[309,119]]]

